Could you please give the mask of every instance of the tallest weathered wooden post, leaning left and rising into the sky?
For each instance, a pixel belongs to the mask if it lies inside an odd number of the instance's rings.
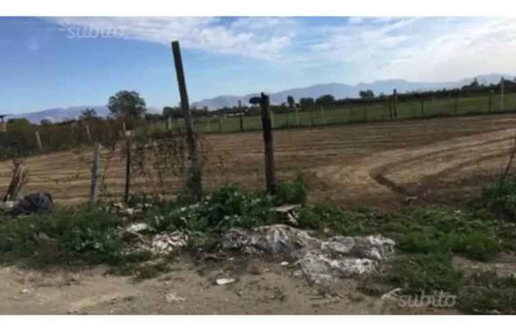
[[[186,81],[184,80],[183,62],[181,59],[181,50],[178,41],[172,42],[172,52],[174,56],[175,72],[178,76],[179,92],[181,96],[181,107],[184,115],[184,124],[186,126],[186,143],[189,149],[189,179],[187,186],[192,190],[192,195],[195,199],[202,198],[202,174],[199,162],[199,155],[197,154],[197,139],[193,132],[192,114],[190,111],[190,104],[188,100],[188,93],[186,91]]]

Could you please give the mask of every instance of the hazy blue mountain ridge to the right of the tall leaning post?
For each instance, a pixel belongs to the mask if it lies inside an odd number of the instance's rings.
[[[295,100],[299,98],[318,98],[323,94],[331,94],[337,99],[341,98],[358,98],[358,93],[362,90],[371,89],[375,94],[392,93],[393,89],[403,93],[407,91],[422,91],[422,90],[436,90],[436,89],[453,89],[462,87],[473,82],[477,78],[480,84],[490,85],[497,84],[504,78],[512,79],[515,76],[502,74],[485,74],[478,75],[473,78],[464,78],[458,81],[451,82],[410,82],[407,80],[376,80],[371,83],[359,83],[357,85],[347,85],[343,83],[326,83],[312,85],[310,87],[303,87],[297,89],[288,89],[276,93],[270,93],[270,102],[272,104],[281,104],[286,102],[288,96],[294,97]],[[248,105],[250,98],[259,96],[259,93],[249,93],[245,96],[217,96],[215,98],[208,98],[194,102],[192,107],[208,109],[221,109],[222,107],[233,107],[238,105],[241,100],[243,105]]]

